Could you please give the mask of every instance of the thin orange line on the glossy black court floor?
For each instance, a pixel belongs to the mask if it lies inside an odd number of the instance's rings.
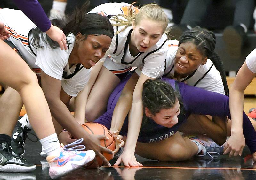
[[[103,166],[108,168],[108,166]],[[140,166],[140,167],[126,167],[126,166],[111,166],[110,168],[156,168],[156,169],[216,169],[216,170],[256,170],[254,168],[199,168],[199,167],[159,167],[159,166]]]

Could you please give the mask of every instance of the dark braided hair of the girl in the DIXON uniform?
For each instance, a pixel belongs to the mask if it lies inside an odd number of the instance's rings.
[[[162,109],[172,108],[176,99],[179,100],[180,106],[183,107],[180,93],[175,91],[167,82],[148,79],[143,84],[142,101],[144,110],[147,107],[153,115],[159,113]],[[146,119],[144,116],[144,123]]]

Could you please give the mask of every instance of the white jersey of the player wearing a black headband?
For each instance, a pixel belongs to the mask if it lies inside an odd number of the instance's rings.
[[[85,69],[81,64],[69,68],[68,58],[75,42],[73,34],[67,37],[70,43],[67,51],[60,48],[52,49],[42,40],[39,42],[44,48],[35,48],[31,45],[32,35],[28,34],[36,25],[20,10],[0,9],[0,20],[11,31],[11,37],[7,40],[17,47],[36,74],[40,75],[42,70],[45,74],[61,80],[63,90],[70,96],[77,96],[83,90],[89,80],[91,69]]]

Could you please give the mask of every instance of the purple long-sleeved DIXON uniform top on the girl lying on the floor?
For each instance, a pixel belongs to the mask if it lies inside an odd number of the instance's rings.
[[[121,91],[123,90],[126,82],[129,80],[129,77],[121,81],[114,89],[108,99],[107,112],[94,122],[100,123],[110,129],[114,108]],[[184,107],[181,109],[180,115],[178,116],[178,123],[171,128],[166,128],[156,124],[150,118],[148,118],[145,123],[143,123],[143,121],[138,137],[139,142],[155,142],[172,136],[175,132],[177,132],[180,124],[184,123],[191,113],[212,116],[228,116],[230,118],[228,96],[206,91],[198,87],[189,86],[165,77],[161,80],[169,83],[172,88],[180,92]],[[126,117],[124,120],[120,135],[127,135],[127,130],[128,117]],[[251,153],[256,152],[256,132],[245,113],[243,114],[243,130],[245,142]]]

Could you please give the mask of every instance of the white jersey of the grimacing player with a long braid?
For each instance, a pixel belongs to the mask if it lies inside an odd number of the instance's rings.
[[[168,52],[159,77],[167,74],[174,75],[174,61],[178,45],[179,41],[177,40],[167,41]],[[196,86],[208,91],[225,94],[220,72],[215,68],[210,59],[207,59],[206,64],[200,65],[194,73],[188,77],[180,79],[180,81],[186,81],[190,86]]]

